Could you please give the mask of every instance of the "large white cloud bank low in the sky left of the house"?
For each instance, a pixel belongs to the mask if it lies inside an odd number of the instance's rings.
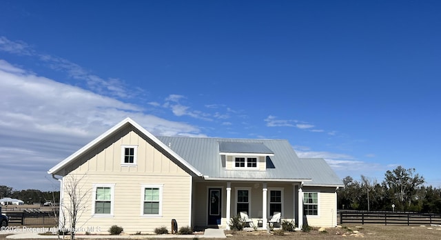
[[[49,168],[125,117],[157,135],[205,136],[195,126],[146,114],[140,106],[40,77],[1,59],[0,100],[0,180],[17,189],[44,189]],[[21,181],[18,175],[26,177]]]

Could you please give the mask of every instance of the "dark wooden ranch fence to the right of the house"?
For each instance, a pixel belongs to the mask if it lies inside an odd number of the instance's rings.
[[[415,212],[353,212],[340,211],[340,224],[441,225],[441,214]]]

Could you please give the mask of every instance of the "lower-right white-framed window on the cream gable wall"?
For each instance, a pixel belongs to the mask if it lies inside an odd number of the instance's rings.
[[[141,188],[142,192],[142,215],[161,216],[162,215],[162,185],[145,185]]]

